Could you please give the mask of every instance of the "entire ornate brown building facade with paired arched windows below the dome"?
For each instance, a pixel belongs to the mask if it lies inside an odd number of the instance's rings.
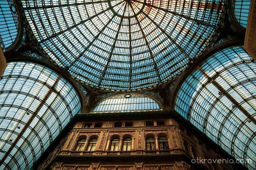
[[[58,145],[36,169],[51,170],[235,170],[241,164],[213,143],[200,140],[200,135],[179,123],[170,114],[164,119],[126,119],[125,113],[110,116],[107,121],[74,122]],[[120,121],[120,118],[124,118]],[[132,113],[130,114],[130,116]],[[106,115],[105,115],[106,116]],[[104,117],[105,117],[104,116]],[[176,115],[177,116],[177,115]],[[156,117],[156,116],[153,116]],[[146,118],[146,119],[142,119]],[[93,118],[91,118],[93,119]],[[104,119],[104,118],[103,118]],[[112,121],[110,121],[112,120]],[[119,120],[119,121],[114,121]],[[68,134],[68,135],[67,135]],[[217,147],[218,148],[218,147]],[[226,157],[227,156],[227,157]],[[194,160],[198,159],[197,162]],[[205,161],[200,159],[205,159]],[[214,160],[222,163],[213,163]],[[210,160],[210,161],[209,161]],[[234,161],[234,159],[233,159]]]

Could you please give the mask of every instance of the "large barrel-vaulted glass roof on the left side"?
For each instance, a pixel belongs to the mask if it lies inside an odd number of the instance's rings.
[[[29,169],[77,113],[78,94],[56,72],[8,63],[0,79],[0,170]]]

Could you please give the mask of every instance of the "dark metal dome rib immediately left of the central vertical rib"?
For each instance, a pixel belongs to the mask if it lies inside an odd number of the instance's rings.
[[[123,15],[125,14],[126,7],[127,7],[127,2],[125,3],[125,6],[124,6]],[[111,58],[112,58],[113,51],[114,51],[114,49],[115,49],[115,44],[116,44],[116,42],[117,42],[117,38],[118,38],[120,29],[121,29],[121,26],[122,26],[122,20],[123,20],[123,19],[124,19],[124,18],[121,18],[121,21],[120,21],[120,23],[119,23],[118,30],[117,30],[117,34],[115,35],[115,40],[114,40],[114,43],[113,43],[113,45],[112,45],[112,47],[111,47],[111,51],[110,51],[110,54],[109,54],[109,57],[108,57],[108,61],[107,61],[106,65],[105,65],[105,68],[104,68],[104,70],[103,70],[103,72],[102,72],[102,75],[100,76],[100,80],[99,80],[99,82],[98,82],[98,86],[100,86],[100,83],[101,83],[101,81],[102,81],[104,75],[106,74],[106,71],[107,71],[109,62],[110,62],[110,60],[111,60]]]

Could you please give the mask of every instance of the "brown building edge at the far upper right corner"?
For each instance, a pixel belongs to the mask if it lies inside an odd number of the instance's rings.
[[[251,1],[245,34],[244,49],[256,60],[256,2]]]

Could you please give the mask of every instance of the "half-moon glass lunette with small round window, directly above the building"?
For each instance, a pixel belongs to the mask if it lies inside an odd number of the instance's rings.
[[[152,96],[140,93],[117,94],[96,104],[93,112],[141,112],[162,110],[161,103]]]

